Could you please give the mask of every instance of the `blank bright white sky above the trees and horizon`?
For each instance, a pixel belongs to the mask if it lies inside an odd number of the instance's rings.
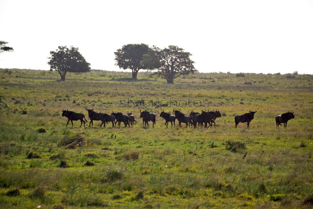
[[[92,69],[119,70],[124,44],[177,45],[200,72],[313,74],[312,0],[0,0],[0,68],[49,70],[60,45]]]

